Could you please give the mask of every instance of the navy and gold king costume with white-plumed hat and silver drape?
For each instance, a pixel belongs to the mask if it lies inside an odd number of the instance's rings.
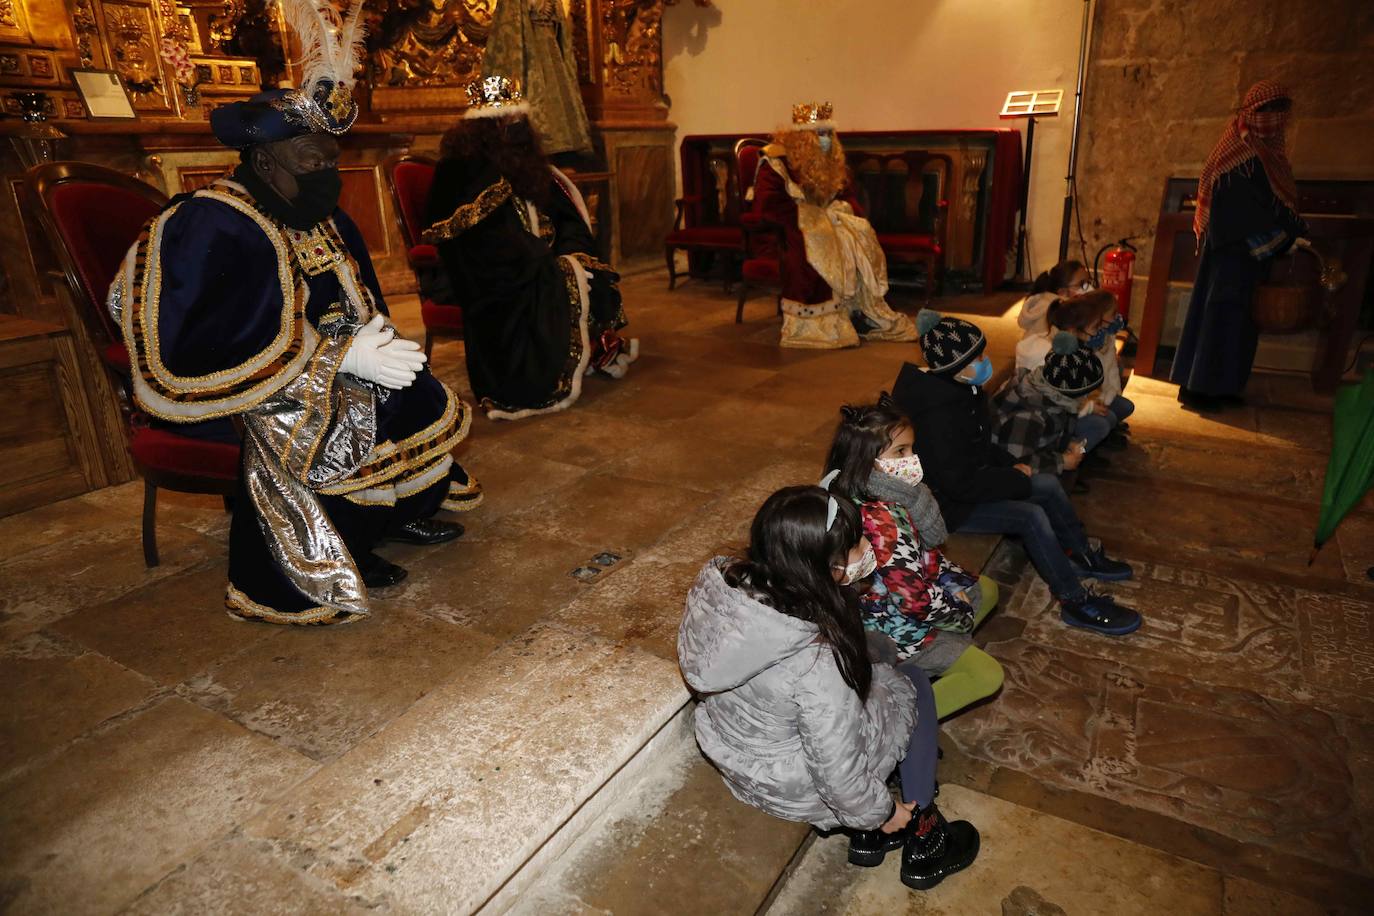
[[[334,27],[311,0],[287,0],[302,88],[216,108],[216,137],[249,150],[352,126],[361,7]],[[298,183],[302,196],[326,198],[323,220],[301,225],[300,207],[247,161],[173,198],[125,257],[110,308],[139,407],[190,434],[217,417],[242,422],[229,614],[337,623],[370,612],[356,559],[400,525],[474,508],[481,490],[449,455],[469,408],[426,368],[396,390],[342,371],[354,335],[386,305],[357,225],[330,206],[337,169]]]

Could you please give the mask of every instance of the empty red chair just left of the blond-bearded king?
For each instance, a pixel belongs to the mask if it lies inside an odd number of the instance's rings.
[[[673,229],[664,236],[664,258],[668,262],[668,288],[677,286],[679,250],[687,251],[697,268],[697,260],[724,258],[725,290],[734,279],[735,264],[745,250],[739,213],[743,196],[735,179],[735,159],[725,152],[690,155],[682,152],[683,196],[677,198]]]

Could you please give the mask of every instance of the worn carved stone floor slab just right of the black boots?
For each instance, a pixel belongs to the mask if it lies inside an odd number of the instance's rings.
[[[944,726],[969,755],[1245,842],[1369,869],[1349,747],[1333,715],[1026,639],[998,643],[993,655],[1006,670],[998,702]]]

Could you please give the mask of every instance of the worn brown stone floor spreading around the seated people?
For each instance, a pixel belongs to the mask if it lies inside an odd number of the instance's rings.
[[[589,380],[565,415],[474,422],[462,460],[485,505],[453,545],[385,548],[411,578],[359,626],[225,617],[228,525],[213,500],[164,500],[155,570],[142,563],[136,483],[0,519],[0,911],[409,913],[488,900],[500,862],[532,853],[607,761],[680,709],[673,640],[701,562],[741,544],[772,489],[819,477],[835,408],[912,356],[783,352],[769,299],[736,325],[719,286],[664,286],[625,282],[643,343],[628,379]],[[1006,358],[1009,304],[949,305],[978,314]],[[416,331],[414,304],[396,305]],[[438,345],[434,365],[466,390],[459,343]],[[1374,504],[1307,566],[1329,405],[1276,376],[1217,417],[1178,411],[1164,385],[1131,394],[1135,445],[1081,508],[1135,563],[1116,591],[1149,623],[1121,641],[1068,630],[1015,552],[999,553],[1009,597],[984,640],[1007,687],[944,739],[951,809],[987,824],[984,878],[949,893],[981,895],[908,898],[888,869],[837,865],[818,842],[785,912],[804,880],[852,913],[995,912],[1014,893],[1069,912],[1110,900],[1069,895],[1087,879],[999,846],[1013,835],[1062,858],[1101,846],[1131,860],[1134,872],[1096,868],[1092,893],[1117,894],[1129,875],[1178,886],[1121,897],[1142,908],[1307,912],[1297,901],[1355,906],[1374,891]],[[591,562],[606,552],[620,559]],[[572,575],[588,566],[602,571]],[[719,799],[701,773],[683,791]],[[735,843],[695,891],[673,876],[673,895],[636,904],[592,875],[603,891],[577,909],[724,912],[708,901],[731,887],[761,901],[776,875],[754,873],[750,847],[776,846],[776,823],[712,803],[721,823],[694,831],[708,847],[712,829]]]

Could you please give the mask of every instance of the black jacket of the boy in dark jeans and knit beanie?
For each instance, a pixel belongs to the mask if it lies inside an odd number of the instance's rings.
[[[951,531],[980,503],[1030,496],[1030,478],[992,444],[988,397],[981,389],[905,363],[892,398],[911,417],[926,483]]]

